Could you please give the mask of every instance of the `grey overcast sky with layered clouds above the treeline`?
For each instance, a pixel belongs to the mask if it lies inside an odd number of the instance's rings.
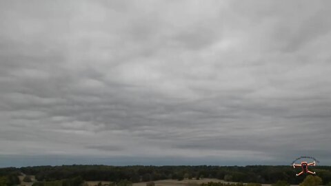
[[[0,167],[331,165],[331,1],[0,1]]]

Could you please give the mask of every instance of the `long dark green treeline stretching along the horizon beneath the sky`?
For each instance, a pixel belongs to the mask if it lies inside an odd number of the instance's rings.
[[[323,185],[331,182],[331,167],[312,167],[317,176],[323,180]],[[83,180],[108,180],[119,182],[130,180],[132,183],[163,179],[201,179],[218,178],[237,183],[276,183],[285,180],[290,184],[299,184],[305,176],[296,177],[300,169],[292,166],[106,166],[106,165],[63,165],[37,166],[0,169],[0,176],[14,176],[22,172],[35,175],[39,181],[65,180],[80,176]],[[11,178],[13,179],[13,178]]]

